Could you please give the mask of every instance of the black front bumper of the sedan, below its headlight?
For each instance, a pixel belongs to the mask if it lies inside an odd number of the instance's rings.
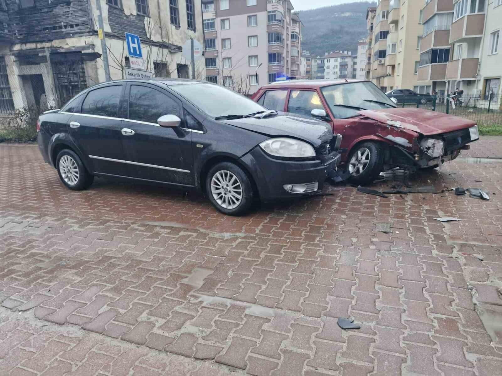
[[[332,170],[336,170],[340,163],[341,154],[334,151],[318,160],[290,161],[278,160],[270,157],[259,146],[241,158],[256,182],[260,199],[272,201],[312,195],[309,193],[291,193],[284,185],[310,184],[317,182],[317,190]]]

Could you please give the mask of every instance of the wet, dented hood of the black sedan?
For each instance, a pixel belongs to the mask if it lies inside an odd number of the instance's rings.
[[[330,141],[333,137],[331,126],[324,121],[285,112],[279,112],[278,115],[263,119],[248,117],[220,121],[271,137],[288,136],[299,138],[310,142],[314,147]]]

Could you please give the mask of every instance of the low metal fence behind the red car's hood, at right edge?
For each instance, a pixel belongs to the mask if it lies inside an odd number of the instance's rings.
[[[462,96],[456,101],[450,96],[438,97],[436,101],[429,100],[427,103],[407,103],[399,106],[417,107],[432,111],[443,112],[450,115],[464,117],[475,121],[480,127],[502,127],[502,103],[501,96],[492,95],[482,98],[479,96]]]

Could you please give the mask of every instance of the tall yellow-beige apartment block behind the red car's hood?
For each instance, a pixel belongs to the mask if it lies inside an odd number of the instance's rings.
[[[383,91],[431,92],[430,80],[417,84],[422,8],[423,3],[417,0],[380,0],[376,9],[368,9],[366,77]]]

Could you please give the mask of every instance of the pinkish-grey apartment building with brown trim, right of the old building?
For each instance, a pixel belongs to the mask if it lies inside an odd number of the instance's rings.
[[[300,71],[301,29],[289,0],[202,0],[207,81],[253,94]]]

